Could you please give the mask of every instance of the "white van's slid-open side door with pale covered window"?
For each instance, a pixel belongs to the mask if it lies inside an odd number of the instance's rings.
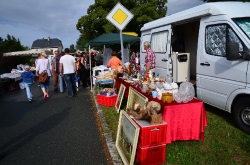
[[[171,25],[156,28],[151,31],[151,49],[156,56],[156,74],[165,77],[172,73],[170,68],[170,44],[171,44]]]

